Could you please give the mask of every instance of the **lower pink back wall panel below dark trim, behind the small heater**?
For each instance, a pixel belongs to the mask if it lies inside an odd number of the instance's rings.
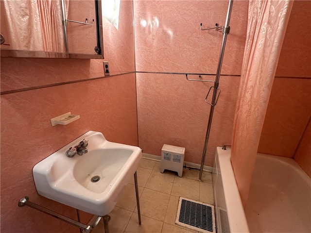
[[[191,77],[191,76],[190,76]],[[237,77],[221,77],[206,165],[212,166],[216,146],[231,143]],[[186,148],[185,161],[201,163],[211,84],[187,81],[183,75],[137,73],[138,141],[145,153],[161,155],[163,144]]]

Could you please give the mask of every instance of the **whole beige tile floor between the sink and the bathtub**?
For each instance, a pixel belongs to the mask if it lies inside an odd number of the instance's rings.
[[[197,233],[175,225],[179,197],[214,204],[212,176],[184,168],[183,177],[165,170],[160,162],[143,158],[137,170],[141,225],[138,224],[134,176],[120,194],[120,200],[109,214],[109,233]],[[104,233],[103,221],[92,233]]]

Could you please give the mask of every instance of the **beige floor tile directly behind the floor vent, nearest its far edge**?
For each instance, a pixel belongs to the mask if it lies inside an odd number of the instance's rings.
[[[191,200],[199,200],[200,182],[175,176],[171,195],[189,198]]]

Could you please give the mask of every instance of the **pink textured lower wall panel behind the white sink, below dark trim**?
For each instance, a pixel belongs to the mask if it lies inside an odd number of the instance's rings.
[[[52,117],[69,111],[81,118],[52,127]],[[1,95],[1,231],[68,232],[59,220],[19,208],[17,201],[29,196],[74,217],[74,209],[36,194],[32,168],[89,130],[102,132],[109,141],[138,145],[133,73]]]

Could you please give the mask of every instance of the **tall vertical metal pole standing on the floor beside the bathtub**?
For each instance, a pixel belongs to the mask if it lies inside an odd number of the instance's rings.
[[[205,162],[205,156],[206,156],[206,150],[207,150],[207,143],[208,143],[208,137],[209,137],[209,132],[211,128],[211,123],[212,123],[212,117],[214,113],[214,107],[217,102],[217,90],[218,90],[218,85],[219,85],[219,78],[220,78],[220,72],[222,69],[222,64],[223,64],[223,58],[224,58],[224,51],[225,51],[225,42],[227,40],[227,34],[230,31],[229,27],[229,21],[230,21],[230,16],[231,16],[231,10],[232,10],[232,3],[233,0],[229,0],[228,3],[228,10],[227,10],[227,16],[225,19],[225,27],[223,28],[223,42],[222,42],[222,47],[220,50],[220,55],[219,55],[219,60],[218,60],[218,67],[217,67],[217,73],[216,73],[216,78],[214,82],[214,90],[213,90],[213,96],[210,104],[210,110],[209,110],[209,117],[208,117],[208,123],[207,123],[207,132],[206,132],[206,137],[205,137],[205,142],[204,142],[204,149],[203,149],[203,154],[202,154],[202,161],[201,161],[201,167],[200,167],[200,174],[199,174],[199,181],[201,181],[202,178],[202,172],[203,172],[203,166]]]

